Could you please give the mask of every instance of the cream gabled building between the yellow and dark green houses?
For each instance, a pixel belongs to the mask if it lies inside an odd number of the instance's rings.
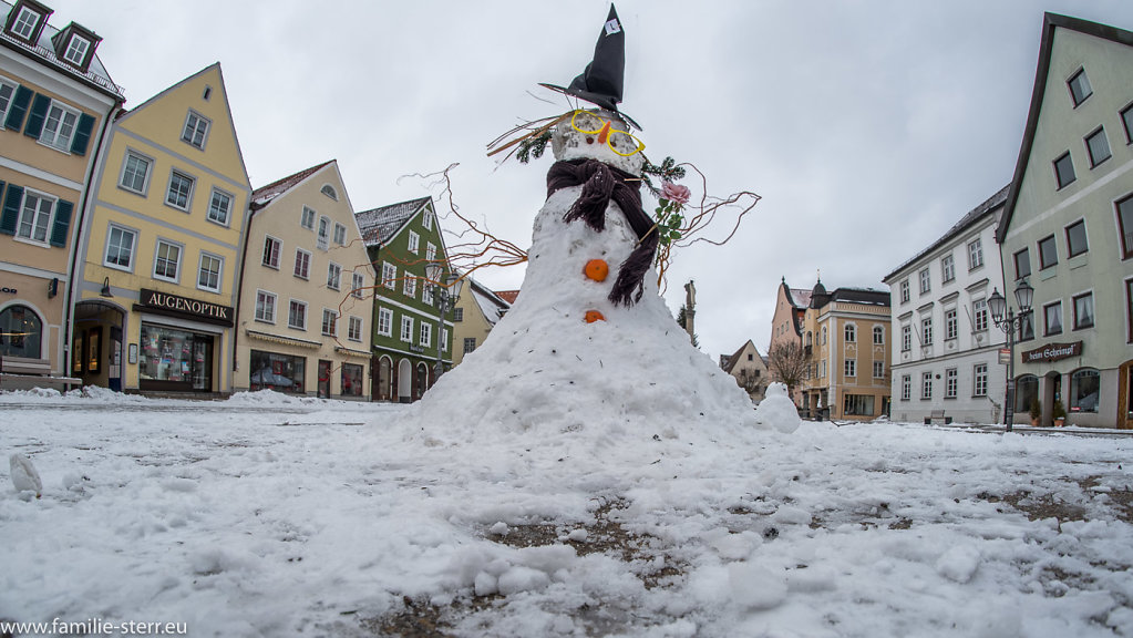
[[[237,390],[369,400],[374,267],[337,161],[252,194]]]

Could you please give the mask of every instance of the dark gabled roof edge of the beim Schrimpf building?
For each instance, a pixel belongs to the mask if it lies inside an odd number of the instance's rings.
[[[1047,90],[1047,77],[1050,75],[1050,54],[1054,51],[1055,31],[1068,28],[1094,37],[1109,40],[1126,46],[1133,46],[1133,32],[1117,28],[1109,25],[1091,23],[1081,18],[1059,16],[1058,14],[1043,14],[1042,16],[1042,41],[1039,43],[1039,65],[1034,70],[1034,88],[1031,90],[1031,107],[1026,113],[1026,126],[1023,128],[1023,143],[1019,148],[1019,159],[1015,160],[1015,176],[1011,180],[1011,193],[1004,205],[1003,216],[999,219],[999,227],[996,229],[996,241],[1003,244],[1007,238],[1007,228],[1011,226],[1011,218],[1015,214],[1015,204],[1019,202],[1019,188],[1022,186],[1023,173],[1026,171],[1026,162],[1031,156],[1031,145],[1034,143],[1034,130],[1039,126],[1039,112],[1042,110],[1042,96]]]

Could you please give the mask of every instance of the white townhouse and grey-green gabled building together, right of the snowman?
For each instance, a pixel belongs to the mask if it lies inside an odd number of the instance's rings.
[[[895,418],[1133,427],[1133,33],[1047,14],[1011,184],[885,281]]]

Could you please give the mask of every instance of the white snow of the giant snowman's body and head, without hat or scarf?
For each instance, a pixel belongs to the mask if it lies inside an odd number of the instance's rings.
[[[595,137],[574,130],[569,119],[561,122],[552,141],[555,159],[596,159],[640,175],[640,153],[619,155]],[[472,432],[517,433],[550,427],[600,434],[633,424],[679,433],[707,423],[753,425],[750,399],[689,343],[657,292],[655,271],[647,273],[637,303],[610,301],[638,237],[613,201],[600,232],[583,220],[564,221],[582,188],[560,188],[546,199],[535,218],[514,305],[479,348],[425,393],[415,418],[423,424],[470,419]],[[608,264],[604,281],[585,274],[593,260]],[[595,311],[604,318],[587,323],[587,313]],[[656,423],[657,415],[664,415],[664,424]]]

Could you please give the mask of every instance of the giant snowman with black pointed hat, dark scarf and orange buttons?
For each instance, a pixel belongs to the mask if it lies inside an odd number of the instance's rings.
[[[420,423],[555,434],[658,422],[755,425],[750,399],[691,346],[657,290],[655,220],[641,202],[640,127],[617,109],[624,31],[611,7],[594,61],[565,88],[585,100],[548,125],[555,163],[519,297],[488,338],[416,403]],[[658,418],[663,417],[663,418]]]

